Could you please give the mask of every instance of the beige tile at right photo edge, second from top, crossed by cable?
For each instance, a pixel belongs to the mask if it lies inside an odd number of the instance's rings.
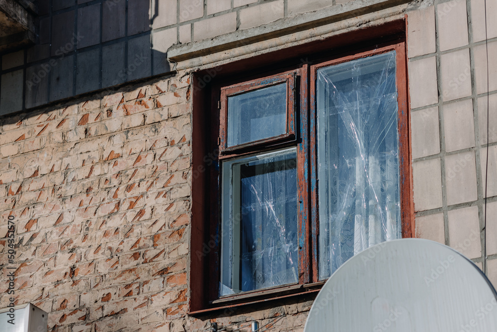
[[[489,43],[489,66],[487,66],[487,46],[485,44],[475,47],[475,76],[476,92],[483,94],[487,91],[487,84],[490,91],[497,90],[497,41]],[[487,69],[490,78],[487,82]]]

